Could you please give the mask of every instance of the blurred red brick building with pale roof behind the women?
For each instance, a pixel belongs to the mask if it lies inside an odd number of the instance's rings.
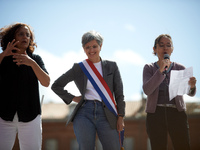
[[[66,119],[75,104],[48,103],[42,106],[43,150],[78,150],[72,123],[67,127]],[[150,150],[145,128],[145,99],[126,101],[125,117],[125,150]],[[191,150],[200,150],[200,105],[187,103],[187,114],[190,126]],[[169,150],[172,150],[170,139]],[[13,150],[19,150],[16,140]],[[102,150],[96,141],[96,150]]]

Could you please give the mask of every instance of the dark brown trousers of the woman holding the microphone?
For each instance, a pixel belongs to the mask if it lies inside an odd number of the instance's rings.
[[[146,127],[152,150],[167,150],[168,134],[174,150],[190,150],[189,125],[185,111],[157,106],[155,113],[147,113]]]

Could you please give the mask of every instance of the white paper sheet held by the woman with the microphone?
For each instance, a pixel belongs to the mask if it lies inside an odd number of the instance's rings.
[[[177,95],[187,94],[190,90],[188,81],[193,76],[193,68],[185,70],[171,70],[169,83],[169,99],[172,100]]]

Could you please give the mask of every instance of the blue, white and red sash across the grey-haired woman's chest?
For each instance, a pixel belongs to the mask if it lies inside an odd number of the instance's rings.
[[[97,68],[94,64],[89,60],[86,59],[83,62],[79,63],[79,66],[88,77],[90,82],[92,83],[93,87],[99,94],[99,96],[104,101],[105,105],[108,109],[113,112],[116,116],[118,115],[116,102],[113,98],[113,95],[108,87],[106,81],[103,79]]]

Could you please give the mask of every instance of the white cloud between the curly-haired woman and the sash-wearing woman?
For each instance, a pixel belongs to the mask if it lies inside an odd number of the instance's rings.
[[[51,85],[58,77],[68,71],[75,62],[80,62],[80,60],[84,60],[85,54],[83,50],[80,50],[79,52],[69,51],[64,53],[62,56],[55,56],[52,53],[49,53],[48,51],[43,49],[39,49],[38,54],[42,57],[45,63],[45,67],[51,77],[51,83],[48,88],[42,87],[40,85],[40,97],[44,95],[44,103],[49,101],[62,102],[62,100],[51,90]],[[74,95],[80,95],[74,82],[69,83],[66,86],[66,89],[69,92],[72,92],[72,94]]]

